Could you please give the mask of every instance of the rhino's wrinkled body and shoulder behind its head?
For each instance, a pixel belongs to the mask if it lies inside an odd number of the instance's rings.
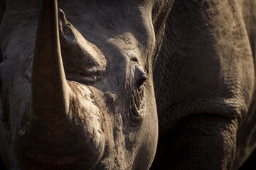
[[[154,64],[151,169],[238,169],[256,145],[256,1],[179,0]]]

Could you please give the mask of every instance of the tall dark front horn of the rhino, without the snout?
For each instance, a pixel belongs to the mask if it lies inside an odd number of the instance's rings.
[[[70,88],[60,52],[57,0],[43,0],[32,69],[31,102],[36,117],[63,120],[69,110]]]

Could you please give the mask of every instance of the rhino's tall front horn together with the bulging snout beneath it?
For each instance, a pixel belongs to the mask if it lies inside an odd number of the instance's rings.
[[[105,147],[100,110],[86,100],[90,91],[82,96],[74,90],[78,84],[65,78],[58,29],[57,0],[43,0],[33,59],[31,111],[18,120],[21,123],[17,123],[13,141],[24,169],[91,169]]]

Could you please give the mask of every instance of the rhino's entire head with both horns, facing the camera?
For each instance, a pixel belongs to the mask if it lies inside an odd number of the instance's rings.
[[[57,17],[52,0],[0,1],[8,169],[149,169],[152,61],[172,3],[62,0]]]

